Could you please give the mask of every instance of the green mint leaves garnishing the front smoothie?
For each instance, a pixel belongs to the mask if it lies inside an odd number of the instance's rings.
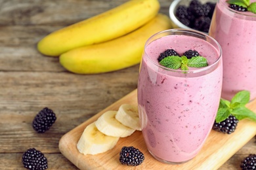
[[[168,56],[160,61],[160,64],[169,69],[179,69],[187,71],[188,67],[205,67],[207,66],[207,59],[202,56],[192,57],[190,59],[186,56]]]

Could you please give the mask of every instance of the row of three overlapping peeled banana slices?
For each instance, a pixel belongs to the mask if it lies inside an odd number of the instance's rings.
[[[123,104],[116,110],[104,112],[95,122],[85,127],[78,143],[81,154],[100,154],[114,146],[120,137],[127,137],[140,129],[137,107]]]

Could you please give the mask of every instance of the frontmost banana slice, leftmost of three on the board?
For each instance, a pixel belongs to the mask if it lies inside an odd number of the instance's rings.
[[[98,131],[95,122],[93,122],[83,131],[77,143],[77,150],[85,155],[100,154],[114,148],[118,140],[119,137],[110,137]]]

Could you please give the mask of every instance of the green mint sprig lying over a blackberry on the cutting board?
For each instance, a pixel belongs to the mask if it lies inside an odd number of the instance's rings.
[[[249,118],[256,122],[255,112],[247,109],[245,105],[249,102],[250,93],[247,90],[240,91],[234,95],[231,101],[221,99],[219,109],[215,121],[222,122],[230,114],[235,116],[238,120]]]

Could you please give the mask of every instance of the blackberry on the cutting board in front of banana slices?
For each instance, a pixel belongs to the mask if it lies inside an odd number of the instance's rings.
[[[133,146],[123,146],[119,154],[119,161],[123,165],[140,165],[144,161],[144,154]]]

